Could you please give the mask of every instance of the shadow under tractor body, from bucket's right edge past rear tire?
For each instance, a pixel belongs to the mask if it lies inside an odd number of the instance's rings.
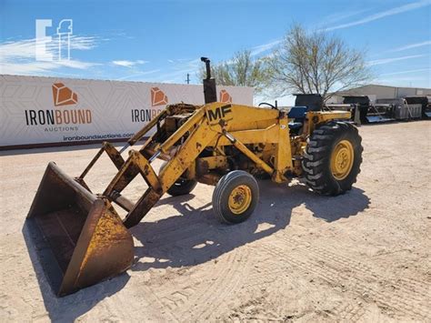
[[[170,204],[178,215],[154,223],[141,222],[132,229],[144,247],[135,247],[138,261],[132,270],[150,267],[183,267],[204,263],[224,253],[268,237],[290,223],[292,210],[305,205],[314,217],[333,222],[342,217],[356,216],[369,205],[365,192],[354,187],[339,197],[313,194],[304,185],[286,187],[261,181],[260,201],[255,213],[238,225],[220,224],[211,205],[191,207],[183,197],[165,197],[158,205]]]

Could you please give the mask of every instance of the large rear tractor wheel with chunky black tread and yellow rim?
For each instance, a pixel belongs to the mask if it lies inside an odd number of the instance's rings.
[[[330,196],[350,190],[361,171],[361,141],[356,126],[346,122],[331,121],[317,128],[302,162],[307,185]]]

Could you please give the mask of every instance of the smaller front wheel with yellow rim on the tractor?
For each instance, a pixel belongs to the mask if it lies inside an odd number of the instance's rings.
[[[240,223],[252,215],[258,199],[256,178],[243,170],[234,170],[218,181],[213,210],[221,222]]]

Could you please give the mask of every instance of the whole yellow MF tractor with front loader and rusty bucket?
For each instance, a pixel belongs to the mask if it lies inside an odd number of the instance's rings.
[[[69,177],[49,163],[26,223],[58,296],[131,267],[134,244],[128,228],[137,225],[165,193],[188,194],[197,182],[216,186],[214,214],[235,224],[256,208],[256,177],[270,177],[276,183],[302,177],[315,192],[328,196],[343,194],[356,182],[363,149],[349,112],[216,102],[209,60],[202,60],[205,105],[166,106],[123,149],[105,142],[79,177]],[[143,146],[130,149],[124,159],[125,148],[143,138]],[[118,172],[104,192],[95,194],[85,176],[104,153]],[[158,174],[152,167],[156,158],[165,160]],[[133,203],[122,191],[137,176],[145,179],[147,188]],[[125,209],[124,218],[114,205]]]

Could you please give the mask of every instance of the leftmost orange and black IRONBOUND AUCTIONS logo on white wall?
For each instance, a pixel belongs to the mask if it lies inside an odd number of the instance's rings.
[[[63,83],[55,83],[52,91],[55,107],[78,103],[78,95]],[[25,110],[26,125],[45,126],[45,131],[76,131],[77,125],[91,124],[92,119],[89,109]]]

